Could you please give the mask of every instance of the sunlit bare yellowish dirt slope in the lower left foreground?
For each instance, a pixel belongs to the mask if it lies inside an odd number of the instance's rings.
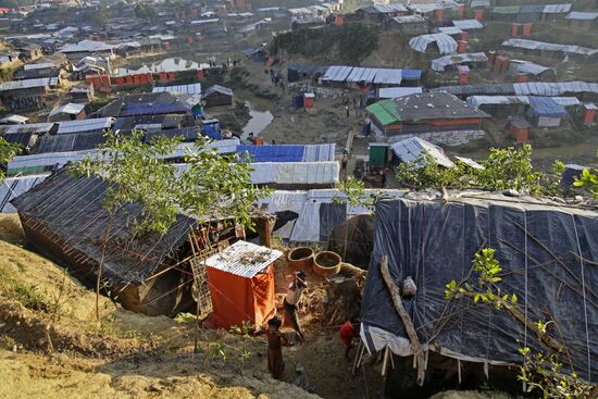
[[[316,398],[270,377],[262,340],[138,315],[103,297],[98,326],[94,292],[20,247],[16,216],[1,216],[0,239],[0,398]],[[226,360],[213,356],[216,342]],[[239,348],[251,351],[242,367]]]

